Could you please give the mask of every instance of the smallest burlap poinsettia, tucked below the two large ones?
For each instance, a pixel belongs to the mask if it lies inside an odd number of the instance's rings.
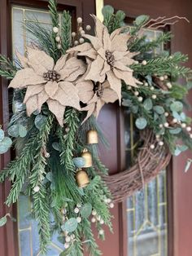
[[[114,103],[118,99],[116,91],[111,90],[109,82],[107,81],[103,84],[98,82],[96,86],[94,86],[91,81],[77,82],[76,88],[79,90],[81,101],[87,104],[85,108],[81,108],[81,110],[87,111],[87,116],[84,121],[92,114],[98,117],[104,104]]]

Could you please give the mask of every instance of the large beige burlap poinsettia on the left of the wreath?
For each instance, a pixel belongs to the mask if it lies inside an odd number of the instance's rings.
[[[85,73],[85,64],[76,57],[69,58],[68,54],[63,55],[55,64],[44,51],[32,48],[28,48],[27,58],[17,55],[24,68],[16,73],[9,87],[27,88],[24,104],[28,116],[35,110],[41,111],[42,104],[46,102],[59,125],[63,126],[66,106],[81,109],[74,82]]]

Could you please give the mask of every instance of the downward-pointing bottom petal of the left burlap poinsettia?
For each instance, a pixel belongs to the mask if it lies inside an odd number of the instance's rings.
[[[62,104],[59,104],[59,102],[54,99],[48,99],[47,104],[50,109],[50,112],[55,114],[55,117],[57,118],[59,125],[63,127],[63,117],[65,113],[65,107]]]

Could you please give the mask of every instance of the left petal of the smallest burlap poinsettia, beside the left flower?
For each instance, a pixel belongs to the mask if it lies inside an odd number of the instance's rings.
[[[88,103],[94,96],[94,85],[91,81],[81,81],[76,83],[78,95],[83,103]]]

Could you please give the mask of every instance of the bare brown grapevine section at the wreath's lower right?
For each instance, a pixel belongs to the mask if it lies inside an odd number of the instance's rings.
[[[141,133],[143,140],[135,164],[128,170],[110,176],[103,176],[111,191],[113,201],[124,201],[128,196],[143,188],[144,183],[148,183],[155,178],[159,171],[164,170],[172,157],[168,147],[158,145],[152,130],[145,130]],[[155,145],[155,150],[151,150],[150,145]]]

